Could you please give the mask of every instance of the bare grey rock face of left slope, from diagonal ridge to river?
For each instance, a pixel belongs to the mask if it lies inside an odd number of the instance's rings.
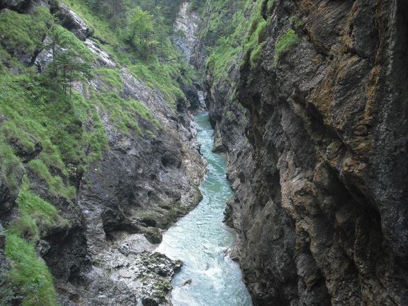
[[[49,8],[62,26],[84,41],[95,55],[93,69],[117,67],[119,71],[119,64],[95,42],[83,19],[64,4],[50,2],[27,1],[30,8]],[[17,10],[18,3],[13,3],[6,1],[4,6]],[[27,13],[30,8],[22,6],[21,10]],[[44,42],[47,39],[44,37]],[[18,59],[44,68],[52,60],[49,46],[44,46],[26,56],[29,60]],[[190,101],[179,99],[174,110],[160,90],[137,80],[128,69],[121,68],[118,78],[114,85],[99,74],[74,82],[74,90],[87,99],[91,94],[110,92],[124,101],[140,103],[139,111],[129,113],[132,120],[124,128],[119,128],[120,122],[108,108],[98,107],[109,147],[85,172],[71,165],[69,180],[77,189],[76,198],[52,194],[44,180],[26,169],[35,194],[52,203],[65,219],[40,228],[40,241],[36,242],[38,255],[53,274],[61,305],[171,305],[170,281],[180,262],[153,253],[154,244],[161,241],[164,230],[201,201],[198,185],[205,164],[195,139]],[[7,118],[1,118],[0,124],[3,119]],[[80,119],[76,124],[69,128],[87,128]],[[24,162],[41,150],[37,145],[33,152],[15,148]],[[15,169],[15,173],[19,176],[17,186],[0,180],[0,222],[5,226],[18,217],[15,201],[24,169]],[[1,272],[8,269],[2,242],[0,235]]]

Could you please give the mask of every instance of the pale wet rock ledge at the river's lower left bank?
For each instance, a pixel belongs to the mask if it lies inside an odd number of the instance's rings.
[[[64,305],[171,305],[171,278],[181,262],[155,253],[143,235],[122,237],[94,257],[89,273],[65,285]]]

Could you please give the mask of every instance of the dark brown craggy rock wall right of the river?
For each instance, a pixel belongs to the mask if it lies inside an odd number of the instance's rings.
[[[254,303],[406,305],[407,8],[275,1],[263,15],[260,62],[237,76],[250,149],[230,158],[227,210]],[[275,66],[291,26],[300,42]],[[215,121],[234,156],[239,128]]]

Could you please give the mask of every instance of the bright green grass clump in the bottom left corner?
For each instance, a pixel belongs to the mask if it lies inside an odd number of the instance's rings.
[[[8,284],[18,288],[23,306],[56,306],[53,278],[46,264],[37,257],[33,244],[8,233],[6,257],[12,266],[7,275]]]

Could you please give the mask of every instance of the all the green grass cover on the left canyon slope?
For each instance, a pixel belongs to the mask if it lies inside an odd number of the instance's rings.
[[[124,42],[120,35],[105,19],[92,14],[85,1],[65,2],[94,28],[95,35],[105,42],[101,44],[105,51],[121,65],[128,66],[136,78],[163,92],[173,108],[177,99],[184,98],[176,79],[182,78],[187,84],[192,80],[180,74],[181,68],[186,71],[188,68],[180,63],[169,40],[162,47],[164,58],[139,60],[134,50],[121,49]],[[88,88],[88,100],[76,92],[66,97],[61,90],[51,90],[44,77],[37,76],[32,68],[24,67],[13,57],[20,51],[34,53],[39,49],[52,23],[51,15],[44,8],[33,15],[17,12],[0,15],[0,36],[3,35],[0,44],[0,176],[10,190],[19,193],[20,211],[19,218],[8,228],[6,256],[12,270],[7,276],[9,285],[0,289],[0,305],[8,305],[13,296],[20,296],[23,305],[56,305],[51,274],[35,255],[34,243],[44,228],[64,226],[69,221],[62,219],[51,203],[35,194],[35,186],[28,176],[24,175],[20,182],[21,174],[29,171],[45,182],[52,196],[75,201],[76,189],[70,186],[70,176],[100,160],[108,148],[100,110],[108,113],[112,122],[118,122],[117,129],[122,133],[132,129],[143,134],[137,124],[139,118],[151,121],[154,128],[161,128],[144,104],[121,98],[119,69],[94,71],[94,76],[107,85],[107,90],[95,92]],[[64,46],[74,48],[83,60],[92,60],[92,53],[83,42],[60,26],[56,31]],[[150,133],[146,130],[146,134]],[[35,155],[39,146],[40,153],[30,162],[23,162],[19,153]]]

